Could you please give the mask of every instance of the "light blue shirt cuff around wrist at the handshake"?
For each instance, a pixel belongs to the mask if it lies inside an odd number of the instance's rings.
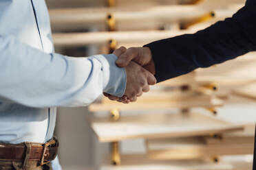
[[[103,92],[116,97],[122,97],[126,88],[125,68],[116,66],[117,56],[114,54],[103,54],[94,56],[103,64]]]

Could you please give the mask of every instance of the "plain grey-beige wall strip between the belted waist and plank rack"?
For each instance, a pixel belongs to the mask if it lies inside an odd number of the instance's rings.
[[[60,141],[58,155],[63,169],[92,167],[93,132],[87,121],[87,108],[58,108],[56,135]]]

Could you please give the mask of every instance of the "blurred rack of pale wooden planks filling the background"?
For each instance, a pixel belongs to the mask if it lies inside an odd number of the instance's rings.
[[[193,34],[232,16],[244,2],[48,0],[51,6],[58,7],[50,9],[56,47],[97,45],[99,53],[109,53],[121,45],[142,46],[153,40]],[[252,154],[253,130],[248,132],[246,125],[222,121],[214,114],[234,93],[256,99],[251,93],[256,85],[255,59],[255,53],[249,53],[237,60],[161,82],[134,104],[118,104],[103,97],[89,106],[91,112],[109,113],[109,117],[94,117],[90,121],[98,141],[111,143],[111,154],[100,169],[241,170],[250,167],[250,162],[242,159],[228,162],[219,158]],[[170,108],[179,111],[162,112]],[[209,115],[192,112],[191,108],[204,108]],[[122,115],[127,110],[135,114]],[[149,110],[156,112],[141,114]],[[120,141],[131,138],[145,138],[147,154],[122,155]]]

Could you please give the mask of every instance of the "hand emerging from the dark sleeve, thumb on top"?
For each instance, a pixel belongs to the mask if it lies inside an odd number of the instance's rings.
[[[125,47],[120,47],[114,51],[114,53],[120,54],[120,56],[118,56],[118,60],[116,60],[117,66],[125,67],[129,62],[131,62],[131,60],[133,60],[150,71],[153,75],[156,74],[151,50],[148,47],[131,47],[126,51],[125,50]]]

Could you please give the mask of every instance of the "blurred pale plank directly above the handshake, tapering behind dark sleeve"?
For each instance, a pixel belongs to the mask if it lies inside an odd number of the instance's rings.
[[[111,39],[117,42],[142,42],[146,44],[153,40],[169,38],[184,33],[184,31],[55,33],[53,34],[53,39],[56,46],[106,45]]]

